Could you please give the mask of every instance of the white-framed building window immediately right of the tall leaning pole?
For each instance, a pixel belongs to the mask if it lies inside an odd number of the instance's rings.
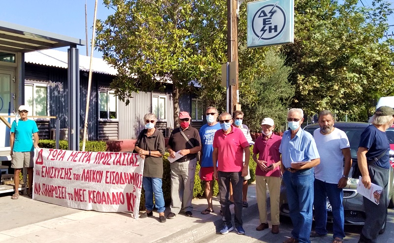
[[[99,119],[118,119],[118,100],[114,91],[99,91]]]

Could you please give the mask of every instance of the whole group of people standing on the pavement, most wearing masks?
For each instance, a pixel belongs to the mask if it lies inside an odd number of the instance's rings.
[[[19,173],[28,168],[29,194],[32,191],[33,149],[38,147],[38,129],[34,121],[27,119],[29,109],[21,105],[20,119],[11,127],[12,168],[15,169],[15,194],[18,199]],[[262,136],[253,141],[248,127],[243,124],[244,113],[234,111],[218,113],[216,107],[209,106],[205,112],[207,124],[199,132],[191,126],[189,113],[179,113],[180,127],[172,131],[168,140],[169,157],[176,159],[170,163],[171,205],[165,217],[162,189],[163,155],[165,142],[163,134],[155,127],[157,117],[153,113],[144,116],[143,129],[135,143],[135,151],[145,159],[142,185],[145,191],[145,208],[140,218],[152,217],[154,207],[160,222],[173,219],[179,213],[193,216],[193,189],[197,161],[199,176],[205,185],[207,208],[202,214],[214,212],[212,206],[213,185],[217,180],[223,226],[221,234],[235,230],[245,234],[242,208],[248,207],[247,189],[250,179],[250,145],[253,146],[253,160],[256,162],[256,195],[260,225],[257,231],[269,228],[267,220],[266,190],[270,195],[271,232],[279,233],[279,196],[283,180],[289,204],[289,214],[293,223],[291,237],[283,243],[309,243],[312,237],[328,234],[326,201],[332,206],[333,240],[342,243],[344,233],[343,191],[347,185],[352,158],[346,133],[334,127],[334,117],[329,110],[319,113],[319,127],[313,136],[301,128],[303,110],[292,108],[288,111],[289,130],[280,137],[274,134],[275,123],[266,117],[261,123]],[[394,109],[379,107],[370,118],[371,123],[361,134],[357,152],[362,184],[370,188],[371,183],[384,189],[380,203],[364,198],[365,225],[359,243],[376,243],[378,232],[385,223],[388,206],[389,150],[386,130],[394,123]],[[31,139],[34,137],[34,142]],[[18,174],[18,176],[16,176]],[[234,205],[234,225],[230,205]],[[316,227],[312,229],[313,209]]]

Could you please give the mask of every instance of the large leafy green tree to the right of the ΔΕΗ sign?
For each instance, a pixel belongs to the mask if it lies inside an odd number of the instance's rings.
[[[382,41],[390,3],[295,1],[295,43],[282,46],[296,85],[292,106],[307,114],[331,109],[343,119],[367,119],[376,100],[393,94],[392,40]]]

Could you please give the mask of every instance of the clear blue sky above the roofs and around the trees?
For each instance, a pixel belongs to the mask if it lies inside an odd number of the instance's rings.
[[[113,9],[103,5],[98,0],[97,18],[105,20],[113,14]],[[394,0],[389,0],[394,2]],[[365,6],[371,6],[372,0],[359,0]],[[88,38],[92,39],[92,26],[95,10],[95,0],[86,0],[88,8]],[[85,0],[0,0],[0,20],[19,24],[55,34],[66,35],[85,40]],[[394,4],[393,4],[394,7]],[[388,18],[389,25],[394,25],[394,14]],[[389,27],[388,34],[394,34],[394,26]],[[79,54],[86,55],[86,47],[79,46]],[[91,45],[89,44],[89,55]],[[67,48],[60,48],[67,51]],[[94,57],[101,58],[99,51],[94,51]]]

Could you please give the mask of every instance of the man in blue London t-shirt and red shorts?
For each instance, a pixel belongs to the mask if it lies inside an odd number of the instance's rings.
[[[208,214],[213,212],[212,207],[212,194],[213,194],[213,164],[212,164],[212,152],[213,152],[213,137],[215,132],[220,130],[220,124],[217,122],[218,110],[209,106],[206,111],[206,121],[208,122],[200,128],[201,138],[201,159],[200,159],[200,179],[205,183],[205,197],[208,202],[208,208],[201,211],[202,214]]]

